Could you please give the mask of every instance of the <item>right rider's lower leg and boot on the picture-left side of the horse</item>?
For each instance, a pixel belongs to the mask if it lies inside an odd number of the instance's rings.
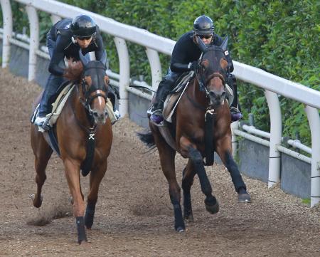
[[[148,113],[151,114],[150,120],[159,124],[164,117],[162,115],[162,111],[164,109],[164,101],[166,100],[166,96],[171,91],[171,81],[170,80],[162,80],[159,83],[158,90],[156,91],[156,97],[154,99],[154,104],[148,110]]]

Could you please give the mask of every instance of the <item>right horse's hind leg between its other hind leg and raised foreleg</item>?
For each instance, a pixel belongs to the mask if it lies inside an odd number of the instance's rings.
[[[193,184],[193,178],[196,172],[193,168],[191,160],[188,160],[188,164],[182,172],[182,183],[181,187],[183,190],[183,218],[193,222],[192,204],[191,204],[191,193],[190,189]]]

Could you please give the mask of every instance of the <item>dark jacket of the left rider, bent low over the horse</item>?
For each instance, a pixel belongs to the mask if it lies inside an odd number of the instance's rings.
[[[47,45],[50,51],[50,47],[53,47],[53,53],[49,64],[49,72],[53,75],[63,75],[64,69],[59,66],[60,61],[66,58],[73,58],[75,61],[79,61],[79,49],[78,43],[73,43],[73,33],[70,30],[70,24],[72,19],[63,19],[53,25],[47,34]],[[95,52],[95,57],[100,60],[104,50],[100,30],[97,27],[97,33],[92,36],[90,45],[82,49],[82,54],[85,55],[91,51]]]

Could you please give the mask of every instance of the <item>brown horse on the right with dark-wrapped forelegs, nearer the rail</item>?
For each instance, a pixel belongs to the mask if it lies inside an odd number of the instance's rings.
[[[161,168],[169,183],[169,195],[174,205],[174,228],[184,231],[183,218],[193,221],[190,189],[193,178],[198,174],[201,190],[206,195],[205,205],[210,214],[219,210],[219,205],[208,180],[203,157],[211,159],[213,151],[230,172],[238,201],[250,202],[250,195],[246,191],[238,166],[233,160],[230,130],[230,110],[226,100],[225,79],[228,61],[225,58],[228,38],[221,46],[206,47],[198,38],[199,47],[203,52],[199,62],[201,69],[196,71],[196,77],[191,80],[181,100],[179,101],[172,123],[166,122],[174,140],[171,147],[170,140],[161,135],[161,127],[149,120],[151,132],[139,133],[139,137],[146,145],[156,145],[159,151]],[[211,122],[210,122],[211,120]],[[210,147],[211,146],[211,147]],[[173,149],[175,148],[175,149]],[[180,187],[176,181],[174,158],[176,152],[188,158],[188,164],[183,169],[181,187],[183,189],[183,215],[181,211]],[[210,156],[212,154],[212,156]]]

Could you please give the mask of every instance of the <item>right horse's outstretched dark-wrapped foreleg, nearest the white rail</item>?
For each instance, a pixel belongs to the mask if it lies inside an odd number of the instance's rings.
[[[235,163],[235,160],[233,159],[233,155],[231,154],[232,150],[231,147],[229,147],[230,145],[230,137],[224,140],[217,140],[217,153],[219,154],[220,159],[222,160],[223,164],[225,164],[225,167],[228,169],[228,172],[230,173],[233,185],[235,186],[235,192],[238,193],[238,201],[250,202],[250,194],[247,193],[247,187],[245,186],[245,182],[243,182],[243,179],[238,169],[238,165]]]

